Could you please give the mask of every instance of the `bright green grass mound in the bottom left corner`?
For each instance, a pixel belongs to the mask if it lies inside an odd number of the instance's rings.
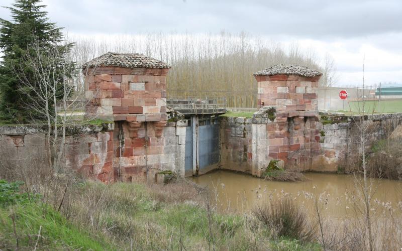
[[[104,238],[91,236],[50,206],[35,202],[0,209],[0,249],[15,249],[17,239],[22,249],[112,249]]]

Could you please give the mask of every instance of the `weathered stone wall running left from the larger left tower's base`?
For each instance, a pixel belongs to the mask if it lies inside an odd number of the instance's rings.
[[[66,137],[62,165],[103,182],[113,181],[111,129],[97,126],[77,128],[78,132],[83,133]],[[38,127],[0,127],[2,164],[10,167],[27,167],[32,163],[48,166],[46,137],[45,130]]]

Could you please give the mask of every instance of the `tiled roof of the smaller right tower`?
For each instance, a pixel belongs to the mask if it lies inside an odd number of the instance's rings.
[[[299,66],[299,65],[285,65],[278,64],[266,68],[265,70],[254,73],[254,76],[270,76],[270,75],[300,75],[304,77],[315,77],[323,75],[316,70]]]

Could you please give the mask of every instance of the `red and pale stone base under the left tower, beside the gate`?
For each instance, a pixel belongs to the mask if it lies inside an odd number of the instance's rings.
[[[122,181],[145,177],[147,167],[149,178],[160,170],[184,175],[185,121],[169,122],[162,132],[155,130],[152,123],[121,123],[121,143],[119,128],[114,131],[114,159]]]

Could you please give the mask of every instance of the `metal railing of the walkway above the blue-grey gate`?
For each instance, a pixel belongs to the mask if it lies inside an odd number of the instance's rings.
[[[183,114],[225,113],[226,111],[226,98],[170,98],[166,100],[166,103],[167,106]]]

